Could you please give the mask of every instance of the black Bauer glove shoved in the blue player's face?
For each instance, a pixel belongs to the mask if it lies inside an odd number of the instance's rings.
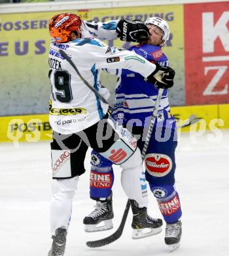
[[[126,20],[122,18],[117,26],[117,37],[120,37],[122,41],[132,41],[141,43],[141,41],[147,41],[150,33],[149,28],[141,20]]]

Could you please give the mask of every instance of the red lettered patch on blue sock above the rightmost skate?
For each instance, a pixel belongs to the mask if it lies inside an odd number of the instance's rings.
[[[181,203],[179,197],[175,195],[174,198],[171,198],[171,200],[167,202],[158,202],[158,206],[162,215],[169,216],[179,211]]]

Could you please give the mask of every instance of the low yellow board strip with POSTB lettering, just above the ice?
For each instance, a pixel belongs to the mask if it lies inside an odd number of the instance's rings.
[[[171,108],[171,114],[177,125],[185,125],[190,118],[194,120],[182,131],[229,128],[229,104],[177,106]],[[0,117],[0,142],[37,142],[51,138],[48,114]]]

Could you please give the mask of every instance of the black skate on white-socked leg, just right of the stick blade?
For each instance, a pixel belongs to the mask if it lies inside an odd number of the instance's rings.
[[[162,231],[162,219],[151,218],[147,214],[147,207],[139,208],[135,200],[130,200],[133,211],[133,239],[145,238]]]

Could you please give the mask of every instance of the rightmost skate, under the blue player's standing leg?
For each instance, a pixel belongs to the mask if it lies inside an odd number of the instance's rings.
[[[166,236],[165,242],[169,245],[169,250],[173,251],[180,245],[182,234],[182,223],[177,221],[176,223],[166,224]]]

